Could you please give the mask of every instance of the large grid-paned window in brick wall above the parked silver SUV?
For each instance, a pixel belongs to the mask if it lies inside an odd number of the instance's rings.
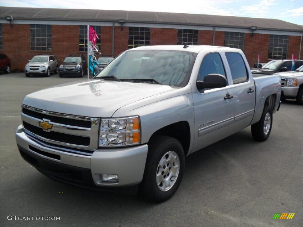
[[[52,50],[52,25],[30,25],[31,51]]]

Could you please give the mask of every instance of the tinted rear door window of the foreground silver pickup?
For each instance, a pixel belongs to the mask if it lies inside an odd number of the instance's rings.
[[[234,84],[243,83],[248,80],[248,74],[244,60],[239,53],[225,53],[231,77]]]

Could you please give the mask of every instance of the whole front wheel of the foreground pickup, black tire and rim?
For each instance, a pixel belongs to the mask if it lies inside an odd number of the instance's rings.
[[[185,155],[175,138],[158,136],[148,143],[148,155],[140,189],[153,202],[163,202],[177,191],[185,169]]]

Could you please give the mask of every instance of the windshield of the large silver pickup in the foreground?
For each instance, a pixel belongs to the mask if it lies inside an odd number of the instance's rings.
[[[95,78],[153,79],[164,85],[183,87],[197,54],[187,51],[134,50],[115,58]]]

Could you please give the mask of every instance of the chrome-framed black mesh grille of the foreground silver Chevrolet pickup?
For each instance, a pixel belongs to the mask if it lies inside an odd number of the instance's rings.
[[[25,133],[59,147],[96,150],[99,121],[99,118],[55,113],[22,105]],[[51,129],[43,129],[40,126],[43,122],[52,125]]]

